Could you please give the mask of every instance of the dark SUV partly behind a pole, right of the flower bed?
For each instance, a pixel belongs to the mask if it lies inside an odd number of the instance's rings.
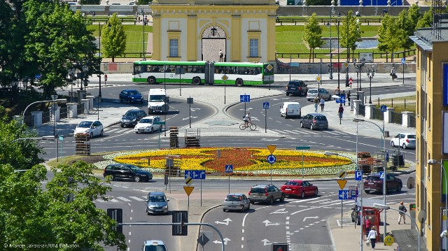
[[[395,175],[386,173],[386,193],[391,191],[400,192],[403,187],[403,182],[396,178]],[[370,173],[364,180],[364,192],[383,193],[383,179],[380,178],[379,173]]]

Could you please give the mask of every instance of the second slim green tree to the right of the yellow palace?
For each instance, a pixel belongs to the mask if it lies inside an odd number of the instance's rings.
[[[339,30],[341,33],[341,48],[349,48],[349,51],[347,52],[347,62],[349,62],[351,51],[356,50],[356,48],[358,47],[358,45],[356,45],[356,42],[362,40],[361,34],[364,33],[364,31],[361,31],[360,29],[360,24],[357,21],[356,16],[353,16],[352,10],[349,10],[349,12],[347,12],[346,18],[343,19]]]

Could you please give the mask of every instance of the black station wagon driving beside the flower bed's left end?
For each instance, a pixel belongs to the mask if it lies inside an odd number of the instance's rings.
[[[104,168],[103,176],[111,175],[111,180],[134,180],[135,182],[153,179],[153,174],[130,164],[109,164]]]

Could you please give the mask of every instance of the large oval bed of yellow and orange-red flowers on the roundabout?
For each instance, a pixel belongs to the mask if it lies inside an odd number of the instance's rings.
[[[218,157],[218,150],[221,157]],[[269,150],[261,148],[185,148],[121,152],[104,158],[140,166],[148,171],[164,172],[167,155],[179,155],[181,170],[205,170],[216,175],[225,174],[226,164],[233,165],[232,175],[270,175],[271,169],[274,175],[332,175],[341,170],[353,173],[355,169],[354,156],[342,152],[339,155],[325,156],[321,151],[302,153],[277,149],[274,152],[274,164],[267,162],[269,154]]]

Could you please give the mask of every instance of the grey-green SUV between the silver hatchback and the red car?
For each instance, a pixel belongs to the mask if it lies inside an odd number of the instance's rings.
[[[265,202],[272,205],[277,199],[280,202],[285,201],[285,194],[274,185],[254,185],[248,195],[251,203]]]

